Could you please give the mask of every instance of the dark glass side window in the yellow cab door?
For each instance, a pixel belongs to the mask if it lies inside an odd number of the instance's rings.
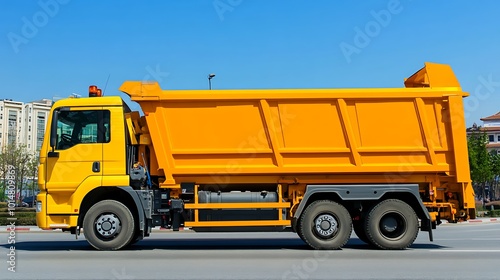
[[[109,111],[61,111],[57,119],[57,150],[66,150],[78,144],[108,143]]]

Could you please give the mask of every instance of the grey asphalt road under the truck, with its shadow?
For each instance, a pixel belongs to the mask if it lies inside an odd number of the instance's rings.
[[[404,251],[309,250],[293,233],[153,232],[127,250],[95,251],[62,232],[17,232],[15,270],[0,234],[0,279],[500,279],[500,223],[443,225]]]

